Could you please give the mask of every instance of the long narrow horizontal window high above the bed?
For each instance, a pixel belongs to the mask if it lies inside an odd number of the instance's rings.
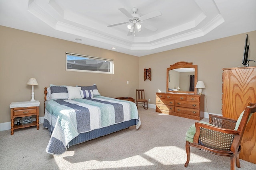
[[[66,70],[114,74],[114,60],[66,53]]]

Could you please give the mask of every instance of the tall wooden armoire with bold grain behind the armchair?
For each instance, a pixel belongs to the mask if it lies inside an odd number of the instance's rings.
[[[222,114],[238,119],[249,102],[256,102],[256,67],[223,68]],[[256,164],[256,113],[246,125],[239,158]]]

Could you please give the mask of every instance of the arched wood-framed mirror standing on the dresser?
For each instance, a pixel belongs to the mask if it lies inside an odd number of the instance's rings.
[[[167,68],[166,92],[194,93],[197,83],[197,65],[184,61]]]

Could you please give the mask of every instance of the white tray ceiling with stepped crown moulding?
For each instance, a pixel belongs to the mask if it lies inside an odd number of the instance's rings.
[[[128,23],[107,27],[129,21],[118,8],[134,7],[162,15],[130,36]],[[6,27],[138,57],[256,30],[255,0],[5,0],[0,14]]]

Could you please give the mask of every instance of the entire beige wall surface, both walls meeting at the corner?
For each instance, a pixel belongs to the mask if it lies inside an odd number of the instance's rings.
[[[248,33],[250,59],[256,61],[256,31]],[[206,88],[205,111],[221,114],[222,68],[242,66],[245,33],[197,45],[135,57],[64,41],[44,35],[0,26],[0,123],[10,122],[11,102],[29,101],[29,78],[37,79],[35,99],[44,115],[44,87],[56,85],[97,84],[102,96],[136,98],[136,88],[156,104],[155,92],[166,91],[166,68],[179,61],[198,65],[198,80]],[[114,75],[65,70],[65,52],[114,59]],[[250,66],[256,63],[250,62]],[[144,81],[144,68],[151,68],[151,81]],[[129,84],[127,84],[129,81]]]

